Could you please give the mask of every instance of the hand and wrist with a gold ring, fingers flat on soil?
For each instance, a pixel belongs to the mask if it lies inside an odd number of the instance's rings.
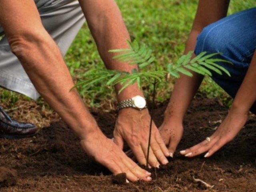
[[[248,112],[240,112],[239,110],[230,109],[224,121],[220,124],[218,129],[206,140],[199,144],[180,151],[182,155],[187,157],[194,157],[196,155],[207,152],[204,157],[210,157],[217,150],[219,150],[226,143],[230,142],[236,134],[242,129],[246,120],[248,119]]]

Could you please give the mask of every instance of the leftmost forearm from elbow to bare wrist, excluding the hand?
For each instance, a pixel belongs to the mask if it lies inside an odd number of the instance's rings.
[[[95,131],[97,124],[78,92],[70,91],[74,84],[56,43],[48,34],[35,42],[23,41],[10,44],[40,95],[81,138]]]

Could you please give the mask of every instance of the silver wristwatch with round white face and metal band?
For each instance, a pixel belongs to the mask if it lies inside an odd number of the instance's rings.
[[[118,110],[120,110],[122,108],[126,108],[126,107],[132,107],[132,108],[135,108],[135,109],[138,109],[141,111],[142,109],[147,107],[146,100],[144,97],[137,95],[135,97],[120,101],[118,103]]]

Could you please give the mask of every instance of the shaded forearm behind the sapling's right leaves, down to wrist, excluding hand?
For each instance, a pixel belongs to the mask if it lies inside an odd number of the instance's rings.
[[[228,4],[229,0],[199,1],[192,30],[186,43],[185,54],[195,49],[197,36],[205,26],[226,16]],[[165,122],[170,122],[173,119],[176,122],[182,122],[184,114],[198,90],[203,76],[192,71],[190,72],[193,74],[193,77],[180,74],[180,78],[176,80],[165,112]]]

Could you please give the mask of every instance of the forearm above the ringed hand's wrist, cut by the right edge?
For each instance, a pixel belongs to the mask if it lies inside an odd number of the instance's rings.
[[[256,51],[246,73],[246,76],[234,98],[231,110],[248,113],[256,101]]]

